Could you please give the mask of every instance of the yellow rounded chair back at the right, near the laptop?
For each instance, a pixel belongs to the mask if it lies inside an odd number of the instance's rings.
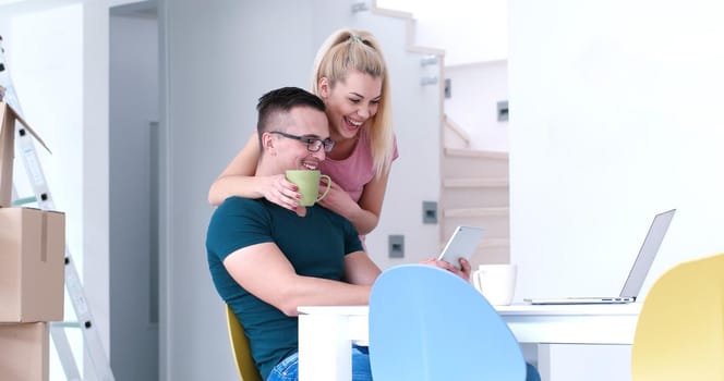
[[[647,295],[632,381],[724,380],[724,254],[680,263]]]

